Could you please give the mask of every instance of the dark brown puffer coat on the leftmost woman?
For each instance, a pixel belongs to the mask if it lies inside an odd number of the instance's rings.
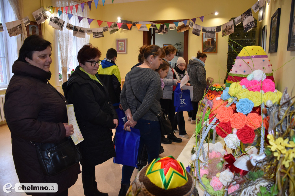
[[[11,131],[12,156],[20,183],[57,183],[56,193],[27,193],[56,195],[75,184],[80,165],[54,176],[41,171],[35,145],[58,143],[65,138],[67,111],[65,97],[48,83],[51,72],[16,61],[14,73],[6,90],[4,112]]]

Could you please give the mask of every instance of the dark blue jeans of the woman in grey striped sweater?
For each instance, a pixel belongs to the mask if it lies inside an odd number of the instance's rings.
[[[139,119],[134,127],[140,130],[138,155],[145,144],[148,152],[148,164],[159,157],[161,130],[159,121]],[[135,167],[123,165],[122,184],[129,184]]]

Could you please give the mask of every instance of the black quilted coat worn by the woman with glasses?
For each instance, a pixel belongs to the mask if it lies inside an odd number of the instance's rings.
[[[110,129],[116,127],[113,119],[118,119],[118,115],[105,86],[91,79],[79,68],[80,66],[75,69],[68,82],[63,84],[63,91],[67,102],[74,105],[78,126],[84,138],[79,144],[81,165],[83,166],[83,162],[98,165],[116,155],[113,132]]]

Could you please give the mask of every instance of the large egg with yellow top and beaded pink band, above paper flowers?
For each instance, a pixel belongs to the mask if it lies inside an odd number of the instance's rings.
[[[262,70],[267,79],[273,79],[272,64],[261,46],[245,46],[235,59],[235,64],[228,74],[226,87],[233,82],[240,82],[256,69]]]

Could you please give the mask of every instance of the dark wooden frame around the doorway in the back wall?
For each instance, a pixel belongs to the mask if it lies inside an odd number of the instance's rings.
[[[173,23],[173,22],[180,22],[182,20],[154,20],[151,22],[154,22],[156,24],[165,24],[165,23]],[[153,34],[154,35],[154,34]],[[152,44],[151,42],[152,38],[152,28],[150,28],[149,31],[143,31],[143,45]],[[155,40],[155,39],[153,39]],[[183,37],[183,59],[185,60],[186,64],[188,64],[188,57],[189,57],[189,30],[184,31],[184,37]]]

